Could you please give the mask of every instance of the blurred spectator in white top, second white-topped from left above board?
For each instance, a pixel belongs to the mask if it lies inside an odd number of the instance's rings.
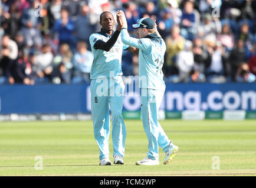
[[[52,79],[52,59],[53,55],[51,52],[51,46],[44,44],[42,46],[42,52],[37,55],[37,59],[35,61],[37,73],[40,75],[40,78],[43,79],[43,82],[48,82]]]

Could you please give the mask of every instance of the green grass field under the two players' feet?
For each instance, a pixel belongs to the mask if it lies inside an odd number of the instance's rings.
[[[164,120],[160,123],[179,152],[164,165],[160,150],[157,166],[136,166],[146,157],[146,134],[142,121],[125,122],[122,166],[99,166],[91,121],[1,122],[0,176],[256,176],[256,120]],[[34,167],[36,156],[42,157],[42,170]],[[214,156],[219,170],[212,169]]]

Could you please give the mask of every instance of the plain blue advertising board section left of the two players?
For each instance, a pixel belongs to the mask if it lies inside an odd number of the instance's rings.
[[[0,86],[0,113],[85,113],[88,85]]]

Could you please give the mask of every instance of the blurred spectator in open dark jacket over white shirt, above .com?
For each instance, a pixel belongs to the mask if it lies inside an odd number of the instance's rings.
[[[209,82],[226,82],[227,54],[221,42],[217,41],[214,48],[208,46],[208,59],[206,60],[206,78]]]

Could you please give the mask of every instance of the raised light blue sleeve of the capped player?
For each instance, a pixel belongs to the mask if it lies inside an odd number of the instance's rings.
[[[132,38],[132,37],[130,37],[126,28],[121,30],[121,38],[122,38],[122,42],[125,45],[129,45],[129,46],[133,46],[135,48],[139,48],[145,53],[149,53],[151,51],[150,40]]]

